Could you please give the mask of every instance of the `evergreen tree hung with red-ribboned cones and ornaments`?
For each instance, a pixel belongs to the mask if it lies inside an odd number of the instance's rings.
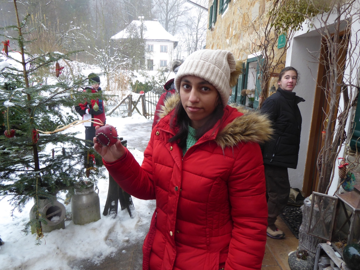
[[[85,151],[101,160],[93,149],[86,149],[84,140],[75,138],[74,133],[43,134],[41,131],[54,131],[60,125],[77,120],[71,113],[73,107],[79,102],[84,103],[84,98],[100,98],[100,94],[76,90],[87,83],[85,78],[62,81],[62,76],[57,80],[54,76],[54,80],[34,84],[33,79],[41,78],[37,76],[40,69],[54,69],[56,62],[70,60],[69,54],[28,53],[25,45],[31,41],[26,39],[29,32],[25,31],[29,15],[21,22],[17,0],[13,1],[17,25],[5,28],[16,31],[17,37],[2,36],[17,42],[19,51],[8,56],[3,53],[7,59],[0,62],[0,114],[7,135],[0,136],[0,196],[10,196],[14,210],[19,211],[33,199],[35,219],[27,223],[24,231],[28,234],[30,226],[35,226],[36,243],[40,244],[44,236],[41,223],[46,224],[46,219],[39,208],[39,200],[52,201],[60,191],[68,190],[71,194],[74,184],[84,179]],[[21,68],[10,66],[6,63],[9,60]],[[49,81],[54,81],[54,84]],[[52,148],[55,149],[54,156]],[[101,165],[96,163],[98,167]],[[94,168],[90,179],[86,180],[95,182],[96,178],[103,176],[103,171]]]

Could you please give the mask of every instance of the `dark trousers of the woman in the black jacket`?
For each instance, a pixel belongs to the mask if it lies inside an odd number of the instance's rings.
[[[269,216],[267,223],[272,230],[276,229],[276,217],[284,210],[290,194],[288,168],[267,165],[265,167],[266,200]]]

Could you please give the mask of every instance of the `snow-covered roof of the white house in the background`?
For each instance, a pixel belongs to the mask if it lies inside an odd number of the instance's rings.
[[[143,21],[144,26],[146,27],[146,31],[144,32],[145,40],[168,40],[173,42],[178,42],[176,37],[171,35],[169,32],[165,30],[164,27],[156,20],[154,21]],[[131,24],[135,24],[136,26],[141,26],[141,21],[132,21]],[[129,33],[126,28],[116,35],[112,36],[111,39],[127,39]]]

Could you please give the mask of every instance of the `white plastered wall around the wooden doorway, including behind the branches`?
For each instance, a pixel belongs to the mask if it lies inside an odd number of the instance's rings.
[[[357,5],[357,4],[356,4]],[[356,10],[354,8],[354,10]],[[325,16],[325,15],[324,15]],[[319,16],[320,17],[320,16]],[[329,21],[331,19],[335,19],[336,14],[331,14],[329,16]],[[314,25],[321,28],[321,19],[318,21],[315,20]],[[341,24],[341,30],[345,27],[345,24]],[[309,32],[308,32],[309,31]],[[359,48],[359,32],[360,31],[360,22],[359,22],[359,14],[353,17],[352,24],[352,36],[349,48],[354,51],[354,54],[351,57],[351,68],[349,66],[349,59],[346,62],[346,69],[344,78],[347,78],[351,71],[352,80],[351,84],[359,85],[359,79],[354,72],[357,73],[359,71],[360,65],[360,48]],[[298,69],[300,72],[300,83],[295,87],[294,91],[297,95],[303,97],[306,102],[302,102],[299,104],[299,108],[302,115],[302,130],[301,130],[301,141],[300,141],[300,151],[299,151],[299,162],[296,170],[289,169],[289,179],[292,187],[302,188],[303,177],[305,172],[305,163],[307,156],[307,147],[309,143],[309,134],[310,134],[310,125],[312,119],[312,109],[314,107],[314,96],[315,96],[315,87],[316,87],[316,78],[318,76],[318,67],[319,63],[311,57],[311,55],[318,56],[320,50],[320,35],[315,28],[309,29],[306,24],[303,24],[303,30],[295,33],[293,40],[291,41],[290,47],[287,51],[286,56],[286,66],[293,66]],[[349,82],[346,82],[349,83]],[[355,87],[353,87],[353,95],[355,94]],[[339,111],[342,111],[343,100],[341,96],[341,100],[339,102]],[[347,134],[350,133],[350,123],[351,116],[348,117],[346,128]],[[345,155],[345,147],[343,147],[339,152],[339,157],[343,157]],[[339,184],[338,177],[338,164],[335,166],[334,171],[334,179],[332,185],[329,189],[328,194],[333,195],[335,192],[337,185]]]

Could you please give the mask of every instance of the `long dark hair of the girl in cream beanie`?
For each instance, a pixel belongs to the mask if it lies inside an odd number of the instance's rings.
[[[218,95],[217,105],[215,110],[211,113],[210,118],[196,131],[196,139],[200,139],[207,131],[209,131],[216,122],[222,118],[224,114],[224,106],[221,103],[221,96]],[[174,117],[171,119],[170,127],[172,130],[177,127],[179,130],[176,135],[169,139],[170,142],[177,141],[180,148],[183,149],[186,146],[186,139],[188,138],[188,125],[190,124],[190,118],[186,113],[181,100],[176,104]],[[221,125],[221,121],[219,126]]]

